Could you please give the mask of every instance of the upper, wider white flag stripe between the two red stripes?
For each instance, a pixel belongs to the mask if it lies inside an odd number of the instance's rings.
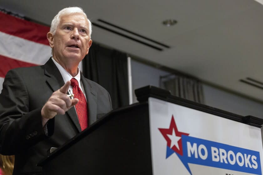
[[[43,65],[51,57],[47,45],[0,32],[0,54],[16,60]]]

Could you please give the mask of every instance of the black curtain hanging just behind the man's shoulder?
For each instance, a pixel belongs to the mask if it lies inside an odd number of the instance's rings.
[[[104,87],[113,109],[129,104],[127,54],[92,43],[83,59],[84,77]]]

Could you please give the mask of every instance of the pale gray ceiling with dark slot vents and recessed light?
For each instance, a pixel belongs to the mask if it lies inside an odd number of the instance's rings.
[[[102,19],[170,48],[159,51],[97,26],[93,26],[94,41],[263,101],[263,89],[239,81],[250,77],[263,82],[262,2],[1,0],[0,6],[45,24],[62,8],[82,7],[92,22],[161,47],[98,21]],[[178,23],[166,27],[165,19]]]

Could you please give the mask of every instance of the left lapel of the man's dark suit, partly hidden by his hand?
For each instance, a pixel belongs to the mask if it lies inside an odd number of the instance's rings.
[[[60,89],[65,83],[62,78],[61,73],[59,72],[59,69],[54,64],[53,60],[50,58],[49,61],[44,65],[45,68],[45,75],[48,76],[47,83],[51,87],[53,91],[56,91]],[[81,132],[79,119],[77,117],[77,113],[75,108],[70,108],[66,112],[69,117],[71,118],[72,122],[75,124],[79,132]]]

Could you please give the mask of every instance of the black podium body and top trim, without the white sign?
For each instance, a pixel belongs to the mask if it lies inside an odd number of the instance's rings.
[[[39,162],[43,175],[152,174],[149,97],[259,128],[263,123],[262,119],[194,103],[152,86],[135,93],[139,103],[113,110]]]

